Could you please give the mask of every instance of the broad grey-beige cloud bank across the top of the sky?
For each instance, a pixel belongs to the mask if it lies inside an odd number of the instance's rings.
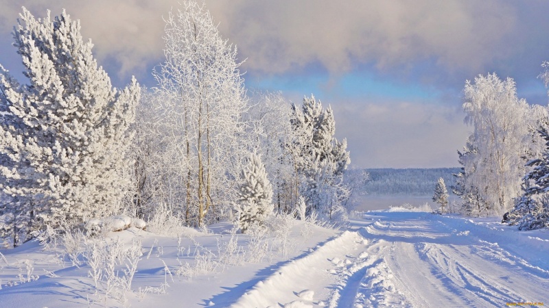
[[[36,16],[44,16],[46,8],[54,15],[66,8],[81,19],[82,34],[93,39],[97,56],[114,58],[128,75],[162,60],[162,16],[178,8],[178,1],[0,0],[0,31],[11,31],[21,5]],[[495,0],[207,1],[224,37],[248,58],[244,68],[265,73],[315,62],[340,73],[356,62],[390,68],[425,59],[478,73],[520,48],[507,40],[518,35],[517,5]]]

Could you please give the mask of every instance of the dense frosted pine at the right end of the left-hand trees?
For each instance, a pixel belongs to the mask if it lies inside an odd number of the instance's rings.
[[[320,211],[331,218],[349,194],[342,183],[350,162],[347,140],[338,142],[334,138],[334,113],[331,107],[324,109],[314,96],[305,97],[301,108],[292,104],[290,123],[292,140],[286,149],[292,153],[299,194],[305,197],[308,213]]]

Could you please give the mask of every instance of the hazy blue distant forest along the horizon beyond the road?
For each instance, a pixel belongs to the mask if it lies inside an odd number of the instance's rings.
[[[458,173],[460,168],[379,168],[366,171],[370,174],[370,181],[365,185],[369,196],[431,196],[440,177],[452,195],[451,186],[456,182],[452,173]]]

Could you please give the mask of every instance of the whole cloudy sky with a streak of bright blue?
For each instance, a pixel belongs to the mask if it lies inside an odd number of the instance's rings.
[[[549,60],[549,1],[207,0],[222,37],[237,47],[246,88],[314,94],[330,105],[336,137],[356,168],[458,166],[471,127],[463,88],[479,74],[512,77],[519,97],[546,105],[537,78]],[[156,85],[163,16],[178,0],[0,0],[0,64],[21,77],[11,31],[21,6],[35,16],[65,8],[123,87]],[[18,75],[19,74],[19,75]]]

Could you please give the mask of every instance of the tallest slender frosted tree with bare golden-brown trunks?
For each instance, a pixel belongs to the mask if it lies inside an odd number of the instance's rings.
[[[221,38],[204,5],[185,1],[165,22],[166,60],[154,76],[163,100],[162,131],[173,150],[166,155],[179,157],[184,175],[183,195],[173,207],[200,225],[235,198],[232,180],[245,148],[239,142],[244,80],[236,48]]]

